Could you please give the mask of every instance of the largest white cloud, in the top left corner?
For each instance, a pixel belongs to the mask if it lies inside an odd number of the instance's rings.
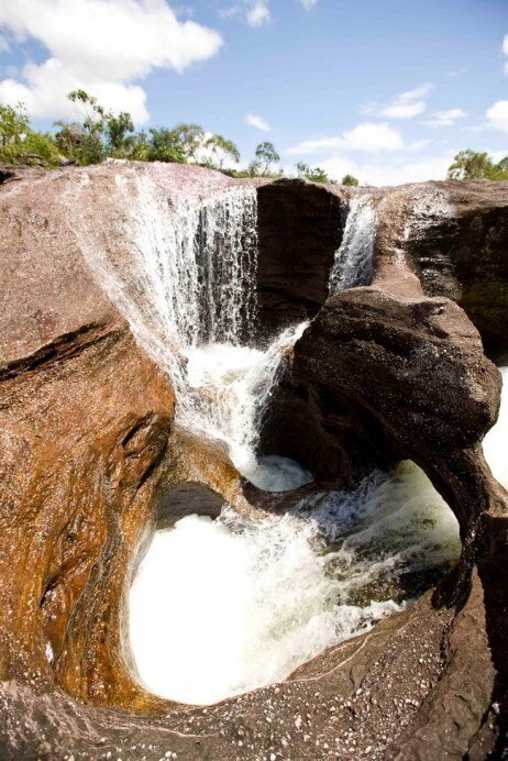
[[[143,122],[146,96],[133,79],[156,67],[183,71],[222,44],[213,30],[178,21],[165,0],[2,1],[0,32],[18,42],[37,40],[49,51],[43,64],[27,64],[20,79],[0,81],[0,99],[21,96],[34,117],[69,115],[65,96],[81,87]]]

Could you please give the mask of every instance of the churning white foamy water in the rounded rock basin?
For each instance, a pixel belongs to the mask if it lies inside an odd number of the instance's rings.
[[[155,536],[132,586],[141,679],[199,704],[278,682],[399,610],[415,577],[459,550],[453,514],[411,463],[284,517],[183,518]]]

